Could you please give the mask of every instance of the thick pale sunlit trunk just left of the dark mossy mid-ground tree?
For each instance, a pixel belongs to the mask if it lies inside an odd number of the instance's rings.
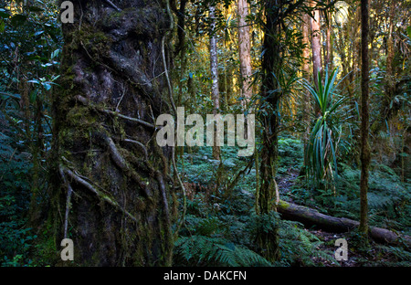
[[[250,40],[249,26],[247,22],[248,2],[247,0],[237,1],[238,14],[238,56],[240,61],[241,73],[241,97],[244,98],[244,106],[247,106],[248,101],[252,96],[251,89],[251,56],[250,56]]]

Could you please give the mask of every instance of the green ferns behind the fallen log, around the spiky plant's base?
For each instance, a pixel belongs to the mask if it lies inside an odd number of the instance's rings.
[[[339,171],[335,189],[319,189],[300,177],[289,197],[296,203],[317,207],[325,214],[358,220],[361,171],[348,164],[340,164]],[[368,189],[370,225],[410,235],[410,186],[388,166],[373,162]]]

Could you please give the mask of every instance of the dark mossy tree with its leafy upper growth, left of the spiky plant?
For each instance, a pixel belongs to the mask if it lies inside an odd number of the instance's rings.
[[[263,56],[261,60],[261,106],[258,121],[262,128],[261,150],[258,153],[258,187],[256,189],[256,212],[263,218],[265,226],[258,228],[257,244],[261,253],[269,260],[279,259],[279,227],[270,220],[277,212],[279,187],[276,182],[279,164],[279,101],[287,93],[280,86],[284,75],[287,56],[298,54],[292,49],[295,37],[285,36],[283,30],[287,17],[295,14],[303,0],[290,3],[268,0],[262,3],[264,16],[261,26],[264,32]],[[291,75],[292,76],[292,75]],[[269,220],[268,220],[269,219]]]

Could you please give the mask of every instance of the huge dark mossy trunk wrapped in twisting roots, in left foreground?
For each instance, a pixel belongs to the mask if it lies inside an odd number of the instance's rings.
[[[171,151],[153,139],[154,118],[170,113],[159,60],[168,57],[169,7],[72,3],[62,88],[53,98],[50,238],[58,248],[63,237],[73,239],[76,265],[170,265]]]

